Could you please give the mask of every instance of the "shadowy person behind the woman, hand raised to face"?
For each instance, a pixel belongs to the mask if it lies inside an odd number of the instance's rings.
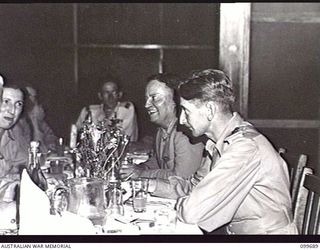
[[[56,151],[58,138],[45,120],[45,112],[38,102],[37,91],[31,86],[25,87],[27,98],[21,119],[17,123],[33,141],[39,141],[42,152]]]

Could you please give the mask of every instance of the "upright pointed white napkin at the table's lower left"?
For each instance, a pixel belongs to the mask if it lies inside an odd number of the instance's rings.
[[[31,180],[24,169],[20,186],[20,235],[82,235],[96,234],[92,222],[70,212],[60,215],[50,214],[50,201]]]

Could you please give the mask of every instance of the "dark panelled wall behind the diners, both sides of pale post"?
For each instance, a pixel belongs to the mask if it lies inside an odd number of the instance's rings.
[[[114,74],[124,99],[136,105],[141,137],[153,135],[145,79],[161,70],[218,67],[219,9],[215,3],[0,4],[0,74],[39,90],[49,124],[66,141],[81,108],[98,102],[98,79]],[[290,164],[300,153],[313,166],[319,162],[319,12],[316,3],[252,4],[248,119],[287,149]]]

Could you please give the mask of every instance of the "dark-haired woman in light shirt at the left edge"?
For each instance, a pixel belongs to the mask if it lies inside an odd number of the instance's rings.
[[[27,164],[29,138],[15,129],[23,111],[24,94],[15,86],[3,88],[0,107],[0,200],[15,199],[14,185]]]

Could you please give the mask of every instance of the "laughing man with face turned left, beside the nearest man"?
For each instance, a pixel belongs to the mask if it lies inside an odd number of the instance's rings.
[[[145,108],[151,122],[159,126],[155,156],[133,170],[128,169],[132,178],[167,180],[170,176],[180,176],[184,179],[193,175],[200,166],[203,143],[191,143],[178,126],[175,89],[179,83],[179,79],[169,73],[153,75],[147,80]],[[122,170],[122,174],[125,172]]]

